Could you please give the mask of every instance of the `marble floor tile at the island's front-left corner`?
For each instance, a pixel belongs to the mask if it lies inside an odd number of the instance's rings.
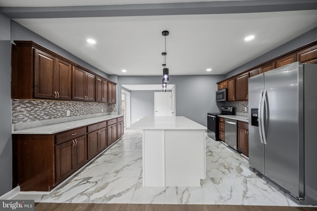
[[[136,185],[132,204],[178,204],[175,187],[143,187],[142,176]]]

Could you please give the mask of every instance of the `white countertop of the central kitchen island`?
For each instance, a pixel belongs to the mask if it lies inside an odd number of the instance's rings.
[[[207,127],[186,117],[145,117],[131,125],[131,129],[205,130]]]

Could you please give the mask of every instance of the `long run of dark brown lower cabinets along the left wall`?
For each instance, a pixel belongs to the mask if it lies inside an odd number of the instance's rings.
[[[118,120],[55,134],[12,134],[12,186],[19,185],[21,191],[51,191],[122,136],[123,118]]]

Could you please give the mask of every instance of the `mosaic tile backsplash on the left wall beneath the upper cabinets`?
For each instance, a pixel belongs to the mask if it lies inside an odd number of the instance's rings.
[[[102,112],[103,109],[103,112]],[[12,124],[116,112],[116,104],[57,100],[12,99]]]

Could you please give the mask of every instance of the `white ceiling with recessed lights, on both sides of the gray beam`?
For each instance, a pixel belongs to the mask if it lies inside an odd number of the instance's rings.
[[[162,2],[202,0],[159,0]],[[210,0],[208,0],[210,1]],[[1,6],[83,5],[86,0],[1,0]],[[150,3],[151,0],[91,0],[98,4]],[[160,15],[131,17],[14,19],[49,41],[107,74],[170,75],[226,74],[240,65],[317,27],[317,10]],[[245,42],[248,35],[255,35]],[[86,40],[93,38],[96,44]],[[206,69],[211,68],[211,72]],[[122,73],[121,70],[127,70]]]

